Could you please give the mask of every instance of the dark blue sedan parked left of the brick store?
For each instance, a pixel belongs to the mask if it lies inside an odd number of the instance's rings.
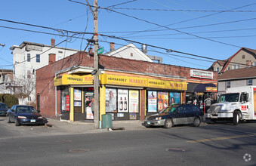
[[[33,106],[14,105],[7,112],[7,122],[20,124],[44,124],[44,118]]]

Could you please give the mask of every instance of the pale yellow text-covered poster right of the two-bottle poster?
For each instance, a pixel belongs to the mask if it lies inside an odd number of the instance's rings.
[[[129,91],[129,112],[139,112],[139,91]]]

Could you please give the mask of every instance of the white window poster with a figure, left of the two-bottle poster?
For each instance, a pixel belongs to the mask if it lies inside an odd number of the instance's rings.
[[[106,112],[116,112],[116,89],[106,88]]]

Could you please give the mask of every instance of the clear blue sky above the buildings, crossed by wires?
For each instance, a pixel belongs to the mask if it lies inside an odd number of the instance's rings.
[[[86,3],[85,0],[74,1]],[[93,5],[93,0],[88,2]],[[255,1],[98,0],[98,6],[101,7],[98,13],[99,33],[129,39],[134,41],[137,48],[141,48],[141,45],[136,42],[165,48],[148,47],[147,53],[163,57],[165,64],[208,69],[214,61],[187,54],[166,54],[166,49],[217,60],[227,59],[242,47],[256,49]],[[54,29],[93,32],[94,27],[88,7],[68,0],[8,0],[2,2],[0,14],[2,20]],[[2,20],[0,20],[0,44],[5,47],[0,46],[0,69],[12,69],[10,50],[12,45],[20,45],[24,41],[51,45],[51,38],[55,38],[56,44],[66,39],[56,30]],[[48,32],[52,35],[10,28]],[[58,46],[83,51],[87,41],[82,41],[81,38],[82,35],[73,35],[68,38],[68,42]],[[91,35],[84,35],[84,38],[91,38]],[[109,42],[115,42],[116,48],[130,43],[103,36],[100,36],[99,40],[104,52],[109,51]]]

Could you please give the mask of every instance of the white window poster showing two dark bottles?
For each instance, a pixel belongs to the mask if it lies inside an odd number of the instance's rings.
[[[118,97],[118,112],[128,112],[128,90],[119,89],[117,93]]]

